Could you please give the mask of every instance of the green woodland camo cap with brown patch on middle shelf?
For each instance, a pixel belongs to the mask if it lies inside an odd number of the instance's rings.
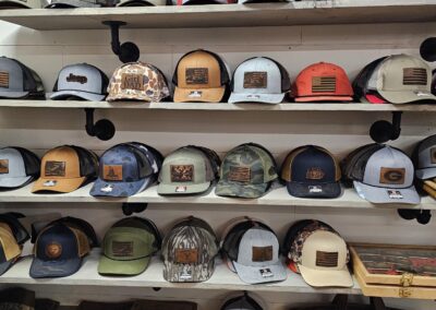
[[[277,179],[272,156],[259,145],[242,144],[226,154],[215,193],[223,196],[259,198]]]

